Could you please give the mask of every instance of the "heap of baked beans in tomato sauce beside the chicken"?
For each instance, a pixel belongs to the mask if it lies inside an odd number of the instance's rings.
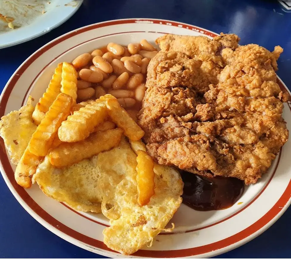
[[[137,120],[147,67],[157,53],[155,46],[143,39],[127,46],[111,42],[91,54],[79,55],[72,62],[78,73],[77,100],[98,99],[109,93]]]

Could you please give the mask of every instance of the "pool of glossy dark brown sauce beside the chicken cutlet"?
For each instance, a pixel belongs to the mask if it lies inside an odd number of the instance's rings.
[[[206,178],[185,171],[180,174],[184,182],[183,203],[199,211],[229,208],[245,190],[244,182],[236,178]]]

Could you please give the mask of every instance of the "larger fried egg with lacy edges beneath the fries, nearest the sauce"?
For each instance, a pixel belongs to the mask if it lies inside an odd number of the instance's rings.
[[[122,138],[118,147],[62,169],[54,168],[46,157],[33,182],[49,197],[76,210],[102,211],[111,224],[103,231],[105,245],[132,254],[165,228],[183,192],[177,170],[155,165],[155,195],[139,206],[136,165],[136,154]]]

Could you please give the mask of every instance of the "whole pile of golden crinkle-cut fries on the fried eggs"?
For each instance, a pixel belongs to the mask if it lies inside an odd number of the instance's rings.
[[[117,147],[124,134],[132,146],[141,147],[133,148],[137,154],[138,203],[149,203],[155,174],[154,162],[141,141],[144,131],[110,94],[78,104],[76,99],[77,71],[69,63],[60,63],[32,114],[38,127],[18,162],[16,182],[29,188],[46,155],[57,168],[70,166]]]

